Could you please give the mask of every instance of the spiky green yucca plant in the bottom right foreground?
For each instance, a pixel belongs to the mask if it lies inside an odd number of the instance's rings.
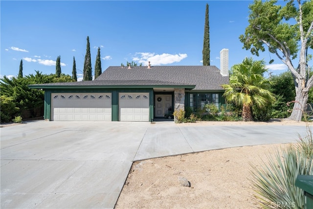
[[[298,143],[268,155],[268,164],[252,166],[250,181],[262,208],[304,208],[304,193],[294,184],[298,175],[313,175],[313,138],[307,127],[307,136],[299,136]]]

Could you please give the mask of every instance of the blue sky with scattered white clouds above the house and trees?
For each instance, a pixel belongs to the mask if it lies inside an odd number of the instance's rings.
[[[92,74],[100,47],[104,71],[135,61],[147,65],[202,65],[205,5],[209,4],[211,65],[220,68],[220,51],[229,49],[229,68],[252,56],[239,36],[248,25],[250,0],[208,1],[0,1],[0,75],[72,72],[73,57],[82,77],[89,36]],[[268,51],[255,59],[287,67]]]

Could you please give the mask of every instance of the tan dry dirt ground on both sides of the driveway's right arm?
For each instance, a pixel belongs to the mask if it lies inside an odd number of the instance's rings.
[[[197,122],[178,125],[306,125],[304,122]],[[287,144],[271,144],[210,150],[194,154],[134,162],[116,203],[116,209],[129,208],[260,208],[251,183],[251,166],[266,163]],[[184,177],[190,187],[180,186]]]

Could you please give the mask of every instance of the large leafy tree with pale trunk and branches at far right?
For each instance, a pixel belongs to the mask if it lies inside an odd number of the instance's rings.
[[[239,39],[254,55],[268,47],[288,66],[296,91],[288,119],[300,121],[313,86],[308,64],[312,58],[309,50],[313,48],[313,1],[290,0],[285,6],[276,3],[277,0],[254,0],[249,5],[249,25]]]

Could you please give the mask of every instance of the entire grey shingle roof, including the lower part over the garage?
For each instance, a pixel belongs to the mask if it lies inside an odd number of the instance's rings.
[[[93,81],[48,83],[29,85],[30,88],[96,88],[106,86],[184,86],[193,90],[223,90],[221,84],[228,84],[229,77],[222,76],[215,66],[147,66],[109,67]],[[114,87],[115,86],[115,87]],[[194,88],[194,86],[196,86]]]

